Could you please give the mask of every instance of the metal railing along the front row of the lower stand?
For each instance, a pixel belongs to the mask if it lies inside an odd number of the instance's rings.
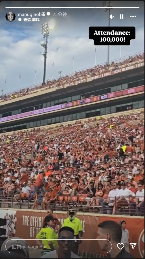
[[[28,194],[18,197],[17,201],[14,195],[9,195],[7,198],[3,198],[1,195],[1,208],[28,208],[31,209],[34,205],[34,199],[28,200]],[[23,196],[23,197],[22,197]],[[108,203],[106,199],[101,197],[88,197],[87,194],[82,195],[58,195],[57,199],[51,204],[49,200],[45,204],[45,210],[49,206],[53,207],[57,211],[68,211],[70,207],[76,209],[77,212],[91,212],[91,213],[101,213],[101,214],[120,214],[120,215],[138,215],[140,213],[140,207],[137,207],[135,203],[135,198],[133,197],[109,197],[110,202]],[[139,198],[139,197],[136,197]],[[112,201],[111,201],[112,199]],[[98,200],[98,201],[97,201]],[[97,203],[96,203],[97,201]],[[48,204],[49,203],[49,204]],[[132,206],[132,207],[131,207]],[[41,208],[39,208],[41,209]],[[144,203],[143,208],[144,210]],[[143,215],[142,215],[143,216]]]

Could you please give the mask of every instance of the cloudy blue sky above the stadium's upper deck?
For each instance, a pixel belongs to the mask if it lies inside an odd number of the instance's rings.
[[[15,5],[18,6],[18,2],[15,2]],[[26,1],[26,6],[30,6],[29,1]],[[76,19],[74,19],[72,12],[69,15],[69,11],[67,17],[57,18],[56,27],[53,32],[50,32],[47,49],[46,79],[52,78],[53,62],[54,77],[58,77],[58,71],[62,71],[62,76],[73,72],[73,55],[75,71],[94,66],[95,46],[93,40],[88,39],[88,27],[94,24],[105,26],[106,21],[103,15],[106,15],[106,13],[99,12],[98,17],[92,17],[91,10],[89,10],[89,18],[85,16],[78,18],[79,10],[76,13]],[[101,18],[102,20],[100,20]],[[3,21],[2,19],[1,89],[4,89],[4,92],[18,89],[20,86],[20,74],[21,88],[34,84],[35,69],[37,70],[36,83],[42,82],[44,58],[41,55],[43,47],[40,46],[40,42],[43,40],[41,23],[33,25],[28,25],[27,23],[25,25],[24,23],[17,22],[14,27],[9,29],[8,24],[5,24]],[[100,21],[102,21],[102,24]],[[140,21],[142,21],[141,18]],[[116,22],[112,19],[111,23],[112,25],[119,26],[120,20]],[[141,22],[136,24],[136,39],[131,40],[131,45],[121,46],[121,56],[129,56],[144,50],[144,27],[142,24]],[[132,21],[129,20],[127,25],[133,26]],[[122,26],[126,26],[125,21],[122,21]],[[110,60],[119,59],[119,57],[120,47],[110,46]],[[96,62],[101,64],[106,62],[106,60],[107,46],[96,46]],[[5,89],[6,78],[7,85]]]

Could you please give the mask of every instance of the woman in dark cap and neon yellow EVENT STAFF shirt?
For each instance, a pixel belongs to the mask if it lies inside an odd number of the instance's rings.
[[[44,219],[43,227],[36,236],[36,241],[39,246],[43,244],[43,250],[49,252],[58,248],[58,236],[55,233],[54,225],[55,220],[53,216],[46,216]]]

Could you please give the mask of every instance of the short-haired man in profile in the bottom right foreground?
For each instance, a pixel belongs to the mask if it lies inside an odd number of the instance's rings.
[[[106,251],[106,258],[135,258],[121,247],[122,228],[117,222],[105,220],[98,225],[98,244]]]

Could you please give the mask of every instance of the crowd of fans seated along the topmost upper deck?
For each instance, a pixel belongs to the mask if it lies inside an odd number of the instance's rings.
[[[62,78],[57,78],[54,80],[47,80],[46,84],[39,84],[39,85],[35,85],[33,88],[24,88],[21,90],[17,90],[14,91],[12,93],[8,93],[8,94],[4,94],[3,96],[1,95],[1,101],[7,101],[10,99],[15,99],[21,96],[25,96],[25,95],[29,95],[32,93],[36,93],[38,92],[39,89],[41,89],[41,91],[43,90],[47,90],[49,88],[62,88],[64,87],[65,84],[68,84],[68,86],[72,85],[74,82],[76,81],[80,81],[82,79],[87,79],[88,77],[91,76],[96,76],[102,73],[107,73],[110,71],[114,71],[119,69],[120,66],[123,67],[127,67],[130,66],[130,64],[132,62],[138,62],[138,60],[142,60],[144,59],[144,53],[143,54],[139,54],[133,57],[129,57],[121,62],[111,62],[111,64],[104,64],[104,65],[97,65],[94,66],[93,68],[89,68],[83,71],[79,71],[79,72],[75,72],[71,75],[66,75]]]

